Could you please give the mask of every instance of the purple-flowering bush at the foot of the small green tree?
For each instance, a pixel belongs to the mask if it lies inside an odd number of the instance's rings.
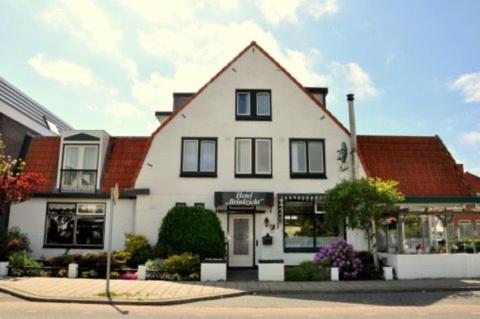
[[[340,268],[340,276],[344,279],[355,279],[362,270],[362,261],[357,257],[353,246],[343,239],[320,247],[313,261],[322,268]]]

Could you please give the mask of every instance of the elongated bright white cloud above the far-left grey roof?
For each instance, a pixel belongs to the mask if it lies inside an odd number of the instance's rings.
[[[41,76],[62,84],[88,87],[93,82],[89,68],[65,60],[49,60],[41,53],[31,57],[28,64]]]

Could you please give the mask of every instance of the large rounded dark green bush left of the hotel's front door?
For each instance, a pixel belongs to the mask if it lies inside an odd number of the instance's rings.
[[[224,258],[225,234],[211,210],[175,206],[163,219],[156,249],[163,258],[184,252],[202,259]]]

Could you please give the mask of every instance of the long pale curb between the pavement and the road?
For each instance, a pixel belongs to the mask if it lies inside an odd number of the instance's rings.
[[[373,293],[399,293],[399,292],[460,292],[460,291],[480,291],[480,286],[465,286],[465,287],[427,287],[427,288],[380,288],[377,290],[372,289],[342,289],[342,290],[246,290],[232,293],[223,293],[218,295],[208,295],[201,297],[191,298],[179,298],[179,299],[166,299],[166,300],[127,300],[127,299],[94,299],[94,298],[55,298],[55,297],[43,297],[33,294],[29,294],[17,289],[11,289],[6,287],[0,287],[0,292],[7,293],[14,297],[18,297],[32,302],[54,302],[54,303],[80,303],[80,304],[102,304],[102,305],[130,305],[130,306],[170,306],[180,305],[187,303],[194,303],[199,301],[217,300],[223,298],[232,298],[245,295],[281,295],[281,294],[345,294],[345,293],[361,293],[361,294],[373,294]]]

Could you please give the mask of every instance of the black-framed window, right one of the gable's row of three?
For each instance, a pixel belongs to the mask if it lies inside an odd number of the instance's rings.
[[[324,139],[290,139],[290,177],[327,178]]]

